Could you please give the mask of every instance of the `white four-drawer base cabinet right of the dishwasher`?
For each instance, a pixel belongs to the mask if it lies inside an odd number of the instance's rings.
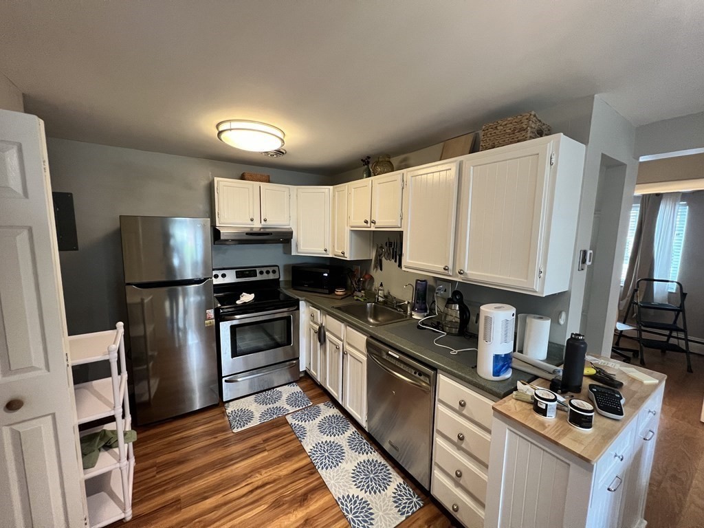
[[[438,373],[430,492],[468,528],[484,526],[493,403]]]

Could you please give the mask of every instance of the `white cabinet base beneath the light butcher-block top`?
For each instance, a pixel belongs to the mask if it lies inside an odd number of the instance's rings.
[[[664,384],[593,464],[496,415],[486,526],[645,527],[663,389]]]

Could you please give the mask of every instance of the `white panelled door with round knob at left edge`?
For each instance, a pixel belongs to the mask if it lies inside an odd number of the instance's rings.
[[[0,524],[82,527],[44,125],[1,110],[0,255]]]

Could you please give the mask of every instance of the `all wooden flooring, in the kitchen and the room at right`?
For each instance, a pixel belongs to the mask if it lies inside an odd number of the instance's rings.
[[[665,399],[648,491],[648,528],[704,527],[704,357],[652,351],[647,367],[665,373]],[[329,398],[310,378],[313,403]],[[233,434],[222,408],[138,429],[133,518],[113,527],[348,527],[325,482],[284,417]],[[452,525],[426,505],[401,528]],[[488,527],[489,528],[489,527]]]

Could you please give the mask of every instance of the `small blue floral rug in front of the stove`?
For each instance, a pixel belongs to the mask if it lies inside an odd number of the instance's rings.
[[[239,400],[225,403],[225,413],[232,432],[236,433],[253,425],[262,424],[294,410],[310,406],[306,393],[298,384],[289,383],[276,389],[258,392]]]

